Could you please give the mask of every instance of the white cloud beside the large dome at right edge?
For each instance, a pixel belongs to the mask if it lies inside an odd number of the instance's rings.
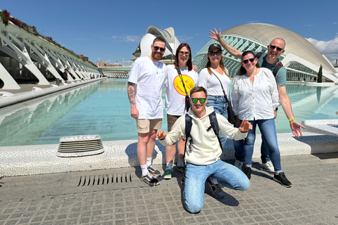
[[[325,55],[332,63],[338,58],[338,36],[330,41],[318,41],[313,38],[307,38],[320,53]]]

